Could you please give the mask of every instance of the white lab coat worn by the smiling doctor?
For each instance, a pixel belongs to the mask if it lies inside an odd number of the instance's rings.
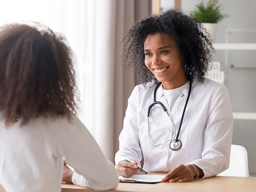
[[[116,164],[120,160],[136,160],[147,172],[168,173],[179,164],[195,164],[204,172],[204,177],[215,176],[229,166],[233,131],[233,115],[227,88],[209,79],[204,83],[194,78],[192,91],[180,130],[182,146],[173,151],[170,142],[151,146],[148,140],[147,113],[153,103],[155,84],[138,85],[128,99],[124,127],[119,136],[120,149],[116,153]],[[188,96],[189,83],[174,102],[172,110],[163,98],[160,86],[156,98],[162,102],[172,116],[176,132],[180,126],[182,112]],[[150,138],[152,144],[160,144],[174,134],[171,125],[166,126],[167,117],[160,106],[150,113]],[[164,126],[162,126],[164,125]]]

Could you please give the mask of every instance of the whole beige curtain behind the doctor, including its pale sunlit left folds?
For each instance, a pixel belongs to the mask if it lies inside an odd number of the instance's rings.
[[[135,86],[134,69],[122,67],[120,42],[128,26],[150,13],[151,0],[94,0],[93,3],[93,136],[107,158],[114,162],[127,99]]]

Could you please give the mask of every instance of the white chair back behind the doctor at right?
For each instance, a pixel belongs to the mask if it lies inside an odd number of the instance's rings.
[[[220,176],[248,177],[248,156],[243,146],[231,145],[229,168],[218,174]]]

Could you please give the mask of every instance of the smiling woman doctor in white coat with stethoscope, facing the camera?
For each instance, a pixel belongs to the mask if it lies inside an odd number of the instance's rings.
[[[136,22],[123,60],[144,84],[128,99],[116,169],[166,173],[162,182],[215,176],[229,166],[233,116],[227,88],[205,78],[212,43],[194,18],[167,10]],[[128,160],[126,162],[124,160]]]

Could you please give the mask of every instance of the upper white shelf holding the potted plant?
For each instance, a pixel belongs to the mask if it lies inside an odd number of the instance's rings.
[[[256,50],[256,43],[214,43],[216,50]]]

